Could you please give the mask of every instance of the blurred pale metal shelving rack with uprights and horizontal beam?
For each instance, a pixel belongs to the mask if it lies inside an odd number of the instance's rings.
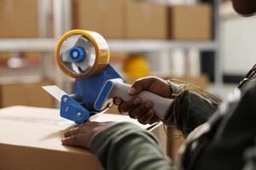
[[[38,0],[40,6],[38,14],[38,25],[40,28],[39,38],[0,38],[0,51],[11,52],[24,52],[24,51],[37,51],[42,53],[43,63],[47,67],[49,61],[49,53],[55,51],[55,45],[61,35],[71,30],[72,28],[72,0]],[[196,48],[201,51],[214,51],[215,52],[215,85],[219,87],[222,85],[222,71],[221,61],[218,56],[218,7],[219,1],[214,1],[214,39],[212,41],[165,41],[165,40],[108,40],[109,48],[112,52],[169,52],[173,49],[180,48],[190,50]],[[54,18],[54,37],[47,37],[48,19],[47,8],[49,3],[53,2],[53,18]],[[44,71],[47,71],[44,68]],[[66,77],[57,77],[59,85],[67,82]]]

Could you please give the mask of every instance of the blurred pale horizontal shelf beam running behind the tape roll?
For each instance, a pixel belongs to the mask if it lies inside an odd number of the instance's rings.
[[[36,51],[54,52],[57,41],[53,38],[6,38],[0,39],[0,51]],[[108,40],[113,52],[157,52],[175,48],[215,50],[217,44],[212,41],[167,41],[167,40]]]

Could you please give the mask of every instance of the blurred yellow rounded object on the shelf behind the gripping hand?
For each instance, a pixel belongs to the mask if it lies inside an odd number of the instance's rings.
[[[125,75],[130,78],[148,77],[150,74],[147,59],[136,54],[125,59],[123,71]]]

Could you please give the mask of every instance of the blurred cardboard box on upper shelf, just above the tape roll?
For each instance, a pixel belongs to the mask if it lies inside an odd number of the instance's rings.
[[[118,0],[73,0],[73,28],[123,37],[123,8]]]

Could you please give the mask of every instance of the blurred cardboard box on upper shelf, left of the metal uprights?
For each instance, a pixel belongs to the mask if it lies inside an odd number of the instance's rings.
[[[38,37],[38,1],[0,0],[0,37]]]

